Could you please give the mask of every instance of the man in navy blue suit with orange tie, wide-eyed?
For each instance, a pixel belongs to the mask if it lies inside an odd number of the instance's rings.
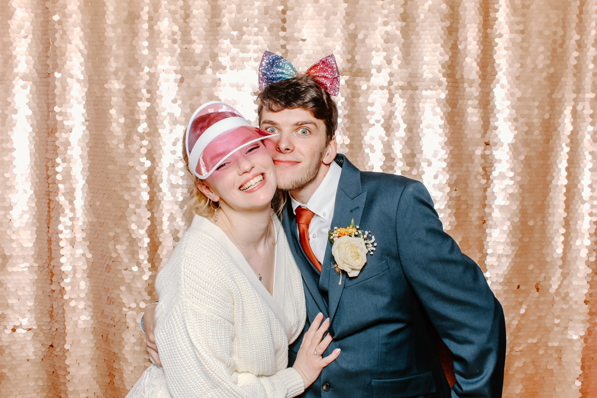
[[[325,87],[325,86],[324,86]],[[341,348],[304,397],[500,397],[506,330],[485,277],[442,229],[418,181],[361,172],[337,155],[336,104],[307,75],[259,94],[260,127],[278,187],[288,190],[283,225],[303,275],[307,325],[322,312]],[[358,276],[337,273],[328,229],[354,220],[376,250]],[[454,354],[450,388],[433,341]],[[290,363],[301,338],[290,347]]]

